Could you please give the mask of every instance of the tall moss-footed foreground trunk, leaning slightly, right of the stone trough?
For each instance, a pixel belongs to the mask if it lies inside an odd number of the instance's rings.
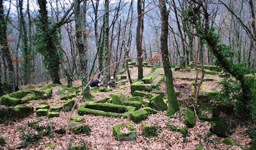
[[[179,105],[177,102],[177,97],[175,95],[175,90],[173,86],[173,78],[172,78],[172,69],[170,66],[170,61],[168,57],[168,14],[166,10],[166,0],[159,0],[159,8],[161,14],[161,27],[162,33],[160,37],[161,42],[161,53],[162,53],[162,60],[163,60],[163,69],[166,77],[166,89],[168,95],[168,103],[169,107],[166,112],[167,116],[174,114],[176,111],[179,110]]]

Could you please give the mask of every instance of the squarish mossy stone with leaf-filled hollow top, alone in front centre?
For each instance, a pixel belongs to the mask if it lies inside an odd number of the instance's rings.
[[[122,128],[129,132],[122,132]],[[131,122],[124,122],[113,126],[113,136],[119,141],[134,141],[136,140],[136,131]]]

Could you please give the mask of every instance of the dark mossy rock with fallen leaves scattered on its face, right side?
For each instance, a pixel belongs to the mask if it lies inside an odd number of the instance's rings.
[[[198,118],[203,120],[212,120],[213,118],[213,108],[212,104],[209,103],[199,103],[198,104]]]

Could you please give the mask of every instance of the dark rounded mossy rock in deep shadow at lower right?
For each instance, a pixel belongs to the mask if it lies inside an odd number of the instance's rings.
[[[215,117],[213,121],[215,126],[211,129],[212,133],[219,137],[227,137],[230,134],[228,123],[224,117]]]

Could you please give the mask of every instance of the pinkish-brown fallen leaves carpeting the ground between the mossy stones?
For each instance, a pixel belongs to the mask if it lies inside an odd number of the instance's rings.
[[[151,71],[151,68],[144,67],[144,76]],[[131,78],[135,80],[137,78],[137,67],[130,68]],[[157,72],[163,72],[163,68],[158,68]],[[186,98],[190,93],[190,83],[191,81],[186,79],[177,79],[177,77],[195,77],[195,71],[191,72],[180,72],[173,70],[174,85],[175,89],[183,92],[183,95],[178,96],[178,98]],[[218,81],[221,80],[218,75],[206,75],[211,77],[214,81],[205,81],[204,91],[208,89],[220,90],[221,87],[218,86]],[[124,95],[130,95],[131,90],[128,81],[119,81],[123,84],[111,92],[96,92],[92,93],[95,100],[105,98],[113,93],[122,92]],[[185,83],[185,87],[180,87],[181,83]],[[63,83],[65,84],[65,83]],[[74,84],[79,85],[81,81],[75,81]],[[39,105],[39,101],[47,102],[50,107],[59,106],[64,102],[60,100],[61,95],[58,94],[58,89],[61,87],[53,87],[52,97],[44,100],[32,100],[28,104],[32,104],[35,108]],[[159,87],[161,90],[166,91],[165,83],[162,82]],[[122,89],[122,90],[121,90]],[[80,100],[78,105],[84,104],[87,100]],[[183,106],[181,106],[183,107]],[[160,128],[158,130],[158,136],[148,138],[142,135],[141,124],[134,125],[137,136],[135,141],[117,141],[113,136],[113,125],[130,121],[129,118],[114,118],[106,117],[101,115],[83,115],[84,121],[82,124],[87,124],[90,129],[90,135],[73,134],[69,133],[67,136],[68,142],[72,139],[74,144],[79,144],[81,140],[85,141],[87,148],[90,150],[195,150],[196,145],[201,144],[204,150],[241,150],[238,146],[226,145],[223,143],[224,138],[220,138],[215,134],[207,136],[209,132],[209,122],[205,121],[201,123],[197,121],[195,126],[188,129],[188,136],[183,137],[183,135],[176,131],[171,131],[167,124],[175,124],[178,127],[184,127],[184,122],[182,118],[176,113],[171,117],[167,117],[166,111],[158,111],[157,114],[148,115],[148,119],[145,120],[146,124],[155,124]],[[70,112],[61,111],[59,117],[47,118],[43,116],[42,121],[39,122],[40,126],[47,126],[49,122],[54,124],[56,127],[65,127],[70,116]],[[78,115],[77,110],[73,112],[73,115]],[[221,115],[224,115],[221,113]],[[0,150],[15,149],[22,142],[20,136],[25,133],[36,133],[37,131],[32,129],[27,125],[29,121],[35,120],[36,113],[29,115],[27,118],[20,119],[18,121],[9,121],[5,124],[0,124],[0,136],[6,139],[6,145],[0,146]],[[235,140],[241,146],[248,148],[250,147],[249,142],[251,139],[244,132],[251,126],[256,126],[255,124],[243,124],[241,121],[237,121],[235,118],[229,117],[230,122],[233,124],[232,134],[230,138]],[[23,129],[23,130],[20,130]],[[207,140],[206,140],[207,138]],[[217,141],[220,142],[217,142]],[[42,139],[33,144],[29,144],[28,147],[23,150],[48,150],[45,144],[54,144],[55,150],[63,150],[61,145],[64,145],[65,135],[54,134],[54,136],[43,136]],[[49,149],[50,150],[50,149]]]

